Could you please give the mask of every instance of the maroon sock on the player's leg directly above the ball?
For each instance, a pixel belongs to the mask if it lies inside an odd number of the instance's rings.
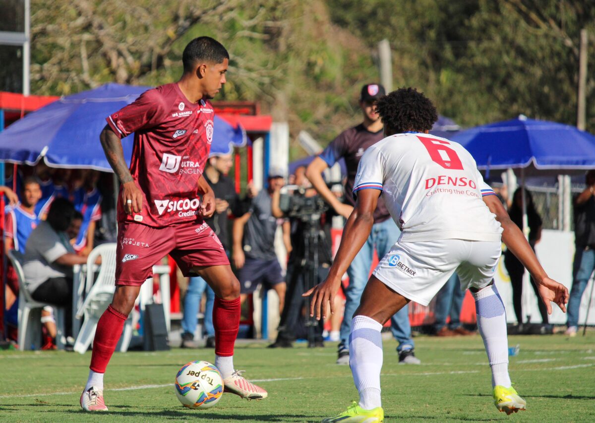
[[[213,326],[215,327],[215,354],[233,356],[233,344],[240,329],[240,299],[222,300],[215,297]]]

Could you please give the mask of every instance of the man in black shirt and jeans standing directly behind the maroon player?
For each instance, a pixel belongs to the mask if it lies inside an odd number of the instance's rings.
[[[233,164],[231,154],[212,154],[205,166],[204,177],[215,193],[215,213],[205,219],[205,223],[215,232],[229,256],[229,213],[240,216],[242,207],[233,181],[226,175]],[[215,328],[213,326],[213,306],[215,292],[200,276],[190,277],[188,289],[184,296],[184,315],[182,317],[182,342],[183,348],[194,348],[194,333],[196,331],[196,314],[201,303],[202,294],[206,292],[205,318],[203,333],[206,335],[207,348],[215,347]]]

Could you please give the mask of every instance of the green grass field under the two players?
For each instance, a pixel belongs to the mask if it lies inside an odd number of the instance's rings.
[[[520,344],[511,377],[527,411],[506,416],[491,400],[490,369],[479,336],[418,337],[422,365],[399,365],[396,342],[384,341],[383,406],[396,421],[595,421],[595,337],[511,336]],[[318,422],[343,411],[357,393],[349,366],[334,364],[336,344],[324,349],[236,346],[235,364],[259,381],[268,399],[224,394],[215,408],[189,410],[173,380],[186,362],[213,361],[212,350],[115,353],[105,378],[109,412],[80,410],[90,353],[0,352],[0,421]]]

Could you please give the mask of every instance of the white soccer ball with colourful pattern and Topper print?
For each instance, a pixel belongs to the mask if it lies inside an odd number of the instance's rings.
[[[221,373],[209,362],[191,361],[176,375],[176,396],[184,407],[211,408],[222,394]]]

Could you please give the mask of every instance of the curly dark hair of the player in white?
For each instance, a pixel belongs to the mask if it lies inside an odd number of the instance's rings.
[[[387,134],[429,131],[438,120],[436,107],[430,99],[412,87],[402,87],[381,97],[376,109]]]

